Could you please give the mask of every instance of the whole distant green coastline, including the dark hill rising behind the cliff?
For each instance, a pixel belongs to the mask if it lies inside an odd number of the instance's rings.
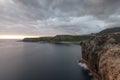
[[[112,33],[119,33],[120,27],[115,28],[108,28],[99,33],[91,33],[88,35],[56,35],[56,36],[49,36],[49,37],[31,37],[31,38],[24,38],[23,42],[49,42],[49,43],[56,43],[56,44],[81,44],[86,41],[90,41],[97,35],[107,35]]]

